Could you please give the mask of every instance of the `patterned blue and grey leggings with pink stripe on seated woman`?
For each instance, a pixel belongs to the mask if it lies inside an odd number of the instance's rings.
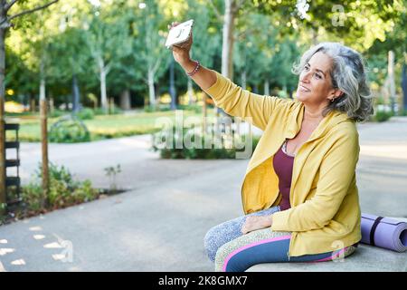
[[[260,263],[331,261],[355,252],[355,247],[350,246],[317,255],[289,256],[290,232],[273,232],[267,227],[241,234],[246,217],[266,216],[277,211],[279,206],[212,227],[204,237],[204,247],[209,258],[215,262],[215,271],[243,272]]]

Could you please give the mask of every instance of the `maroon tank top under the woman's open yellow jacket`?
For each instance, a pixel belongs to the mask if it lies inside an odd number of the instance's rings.
[[[283,144],[283,146],[285,143]],[[279,203],[280,210],[291,208],[289,204],[289,189],[291,188],[292,167],[294,165],[294,156],[290,156],[282,150],[281,146],[274,155],[273,167],[279,177],[279,192],[282,199]]]

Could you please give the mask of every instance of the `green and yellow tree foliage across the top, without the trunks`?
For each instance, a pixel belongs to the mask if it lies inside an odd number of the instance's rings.
[[[18,1],[13,13],[40,2]],[[137,99],[147,99],[151,90],[158,97],[168,91],[172,57],[164,46],[166,25],[191,18],[195,19],[192,57],[221,70],[222,0],[143,3],[60,1],[47,11],[15,19],[6,39],[6,89],[13,89],[18,100],[38,94],[43,59],[47,90],[56,102],[65,102],[71,94],[73,75],[82,96],[99,96],[99,57],[108,69],[109,97],[118,100],[125,90]],[[298,4],[309,5],[305,18]],[[293,92],[297,77],[291,66],[301,53],[315,42],[339,41],[364,53],[373,81],[383,85],[388,51],[396,55],[396,76],[405,62],[405,7],[405,0],[345,1],[340,6],[322,0],[242,1],[234,30],[235,82],[241,83],[245,74],[250,89],[262,91],[269,82],[271,91]],[[148,72],[153,72],[150,78]],[[186,83],[185,73],[175,66],[176,92],[183,94]]]

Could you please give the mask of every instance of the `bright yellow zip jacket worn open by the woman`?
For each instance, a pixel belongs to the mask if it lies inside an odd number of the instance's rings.
[[[264,131],[241,185],[244,213],[277,206],[281,194],[273,157],[300,130],[304,104],[248,92],[215,73],[217,81],[205,90],[215,105]],[[291,208],[273,214],[270,227],[292,232],[289,256],[335,251],[362,238],[355,176],[359,150],[355,121],[339,111],[328,113],[298,150]]]

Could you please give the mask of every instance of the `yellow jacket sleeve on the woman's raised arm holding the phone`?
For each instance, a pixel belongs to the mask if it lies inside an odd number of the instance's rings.
[[[214,104],[229,115],[240,117],[264,131],[271,113],[282,105],[292,102],[278,97],[262,96],[243,90],[228,78],[216,73],[216,82],[204,90],[213,98]]]

